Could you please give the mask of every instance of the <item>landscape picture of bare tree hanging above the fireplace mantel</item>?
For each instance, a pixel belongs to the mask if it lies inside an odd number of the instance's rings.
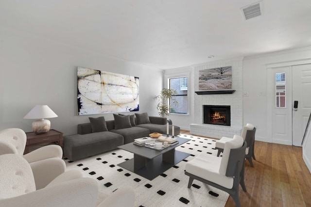
[[[199,71],[199,90],[222,90],[232,88],[232,67],[217,67]]]

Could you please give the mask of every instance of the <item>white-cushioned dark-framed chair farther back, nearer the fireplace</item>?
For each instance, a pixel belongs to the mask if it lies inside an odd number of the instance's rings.
[[[254,125],[247,123],[241,132],[242,138],[246,141],[247,147],[245,150],[246,159],[249,161],[250,165],[254,167],[252,158],[256,160],[254,154],[255,147],[255,133],[256,127]],[[220,153],[224,151],[225,142],[231,140],[229,137],[222,137],[220,140],[216,141],[215,148],[218,149],[217,157],[219,157]]]

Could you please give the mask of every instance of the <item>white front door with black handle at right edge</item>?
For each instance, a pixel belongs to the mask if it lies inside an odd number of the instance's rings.
[[[311,64],[294,65],[292,73],[293,106],[298,101],[297,110],[293,109],[293,145],[301,146],[311,113]]]

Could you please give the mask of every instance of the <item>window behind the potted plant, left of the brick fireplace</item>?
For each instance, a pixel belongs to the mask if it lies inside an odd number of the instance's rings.
[[[168,85],[176,90],[174,98],[178,102],[178,105],[171,107],[170,113],[188,114],[188,77],[169,78]]]

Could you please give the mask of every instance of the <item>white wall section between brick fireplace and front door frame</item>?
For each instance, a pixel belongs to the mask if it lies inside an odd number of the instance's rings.
[[[267,65],[294,62],[310,59],[311,48],[269,53],[261,56],[246,57],[243,60],[243,124],[252,123],[257,126],[256,140],[272,142],[271,114],[268,108],[267,94],[274,87],[267,86]],[[260,96],[261,93],[261,96]],[[262,96],[264,93],[264,96]],[[310,93],[310,92],[309,92]]]

